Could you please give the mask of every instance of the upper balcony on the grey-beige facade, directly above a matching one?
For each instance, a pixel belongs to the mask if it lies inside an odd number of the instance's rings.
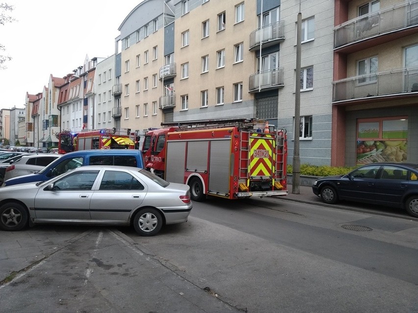
[[[285,40],[285,23],[284,21],[268,24],[256,29],[250,34],[250,51],[260,49],[260,41],[262,47],[270,47],[277,45]]]

